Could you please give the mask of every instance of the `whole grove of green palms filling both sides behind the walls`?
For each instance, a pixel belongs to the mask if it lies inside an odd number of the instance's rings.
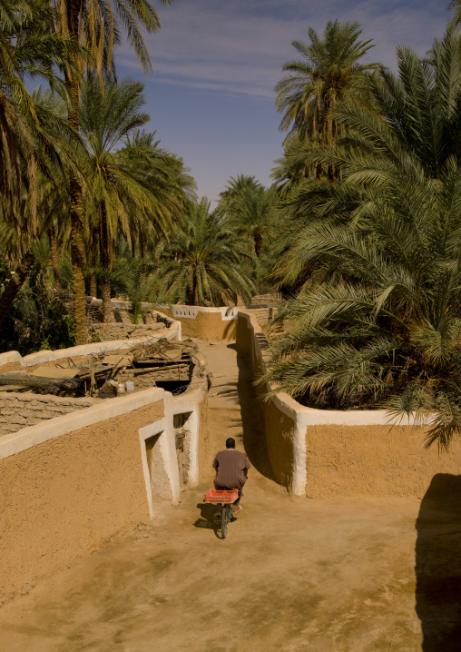
[[[164,1],[162,4],[166,4]],[[0,2],[2,347],[87,341],[85,294],[222,305],[279,290],[266,380],[319,408],[386,408],[461,427],[461,6],[425,57],[370,63],[359,25],[293,42],[277,84],[284,154],[265,188],[214,210],[145,131],[148,0]],[[115,56],[114,53],[115,52]],[[29,94],[25,80],[42,87]],[[11,271],[14,270],[14,273]]]

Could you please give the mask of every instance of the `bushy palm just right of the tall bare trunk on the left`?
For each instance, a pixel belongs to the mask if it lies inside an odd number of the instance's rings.
[[[129,79],[107,82],[104,92],[97,79],[82,85],[80,130],[89,162],[83,208],[90,230],[99,236],[106,322],[112,316],[110,270],[119,233],[131,242],[134,222],[144,232],[155,227],[164,231],[181,208],[181,188],[163,183],[159,189],[154,182],[155,172],[158,177],[161,169],[158,143],[152,142],[151,135],[137,132],[149,121],[149,115],[142,113],[142,91],[143,84]],[[162,163],[163,177],[168,178],[169,166],[174,168],[176,161],[171,163],[163,154]]]

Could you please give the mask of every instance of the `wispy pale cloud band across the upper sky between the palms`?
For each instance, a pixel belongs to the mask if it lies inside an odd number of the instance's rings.
[[[307,40],[308,25],[321,31],[329,18],[358,21],[376,44],[368,58],[393,66],[397,44],[425,52],[447,18],[440,0],[176,0],[160,15],[162,32],[147,37],[158,81],[262,97],[273,97],[281,64],[295,54],[291,41]],[[139,65],[127,47],[118,61]]]

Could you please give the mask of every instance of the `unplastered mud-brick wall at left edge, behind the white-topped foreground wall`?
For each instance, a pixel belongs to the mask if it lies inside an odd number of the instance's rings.
[[[0,436],[94,405],[94,399],[60,398],[32,392],[0,393]]]

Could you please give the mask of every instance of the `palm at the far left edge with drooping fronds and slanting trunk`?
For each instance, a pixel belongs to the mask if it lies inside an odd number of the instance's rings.
[[[43,225],[37,179],[49,177],[60,157],[70,159],[69,133],[52,95],[31,95],[25,87],[25,77],[60,87],[55,65],[73,66],[78,46],[53,35],[54,18],[43,2],[0,2],[0,212],[9,260],[18,265],[0,297],[0,325],[34,264],[32,247]]]

